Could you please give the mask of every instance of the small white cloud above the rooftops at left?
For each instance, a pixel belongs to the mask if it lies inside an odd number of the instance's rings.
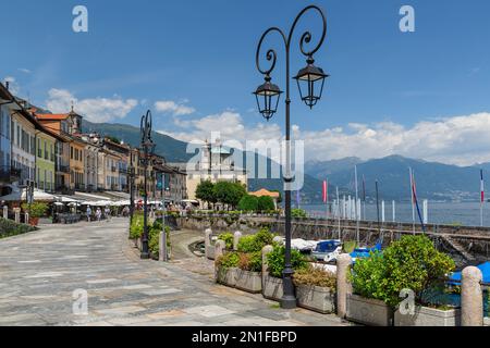
[[[72,103],[75,111],[90,122],[101,123],[118,119],[124,119],[136,105],[136,99],[113,98],[77,99],[66,89],[52,88],[48,92],[47,108],[54,113],[65,113],[71,110]]]

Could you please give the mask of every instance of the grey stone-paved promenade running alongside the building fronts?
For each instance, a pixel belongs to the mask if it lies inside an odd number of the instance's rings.
[[[346,325],[213,284],[212,262],[186,250],[196,233],[173,235],[176,260],[163,264],[139,260],[126,231],[113,219],[0,240],[0,325]],[[73,314],[76,289],[88,315]]]

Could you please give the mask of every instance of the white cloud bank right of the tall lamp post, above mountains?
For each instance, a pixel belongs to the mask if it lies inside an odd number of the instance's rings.
[[[470,165],[490,161],[490,113],[439,121],[412,127],[396,123],[350,124],[347,129],[294,130],[305,140],[306,157],[316,160],[356,156],[362,159],[401,154],[442,163]]]

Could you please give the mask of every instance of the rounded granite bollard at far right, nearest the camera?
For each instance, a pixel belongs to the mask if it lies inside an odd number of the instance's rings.
[[[483,326],[483,293],[481,271],[475,266],[463,270],[461,278],[461,325]]]

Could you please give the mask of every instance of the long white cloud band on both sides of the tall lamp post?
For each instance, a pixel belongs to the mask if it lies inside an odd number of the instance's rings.
[[[174,138],[193,141],[210,139],[220,132],[223,140],[281,139],[278,124],[246,125],[236,112],[225,111],[198,120],[174,120],[180,132],[164,132]],[[364,160],[401,154],[442,163],[470,165],[490,161],[490,113],[421,121],[413,126],[393,122],[351,123],[345,127],[303,130],[293,125],[293,138],[305,141],[306,160],[331,160],[356,156]]]

